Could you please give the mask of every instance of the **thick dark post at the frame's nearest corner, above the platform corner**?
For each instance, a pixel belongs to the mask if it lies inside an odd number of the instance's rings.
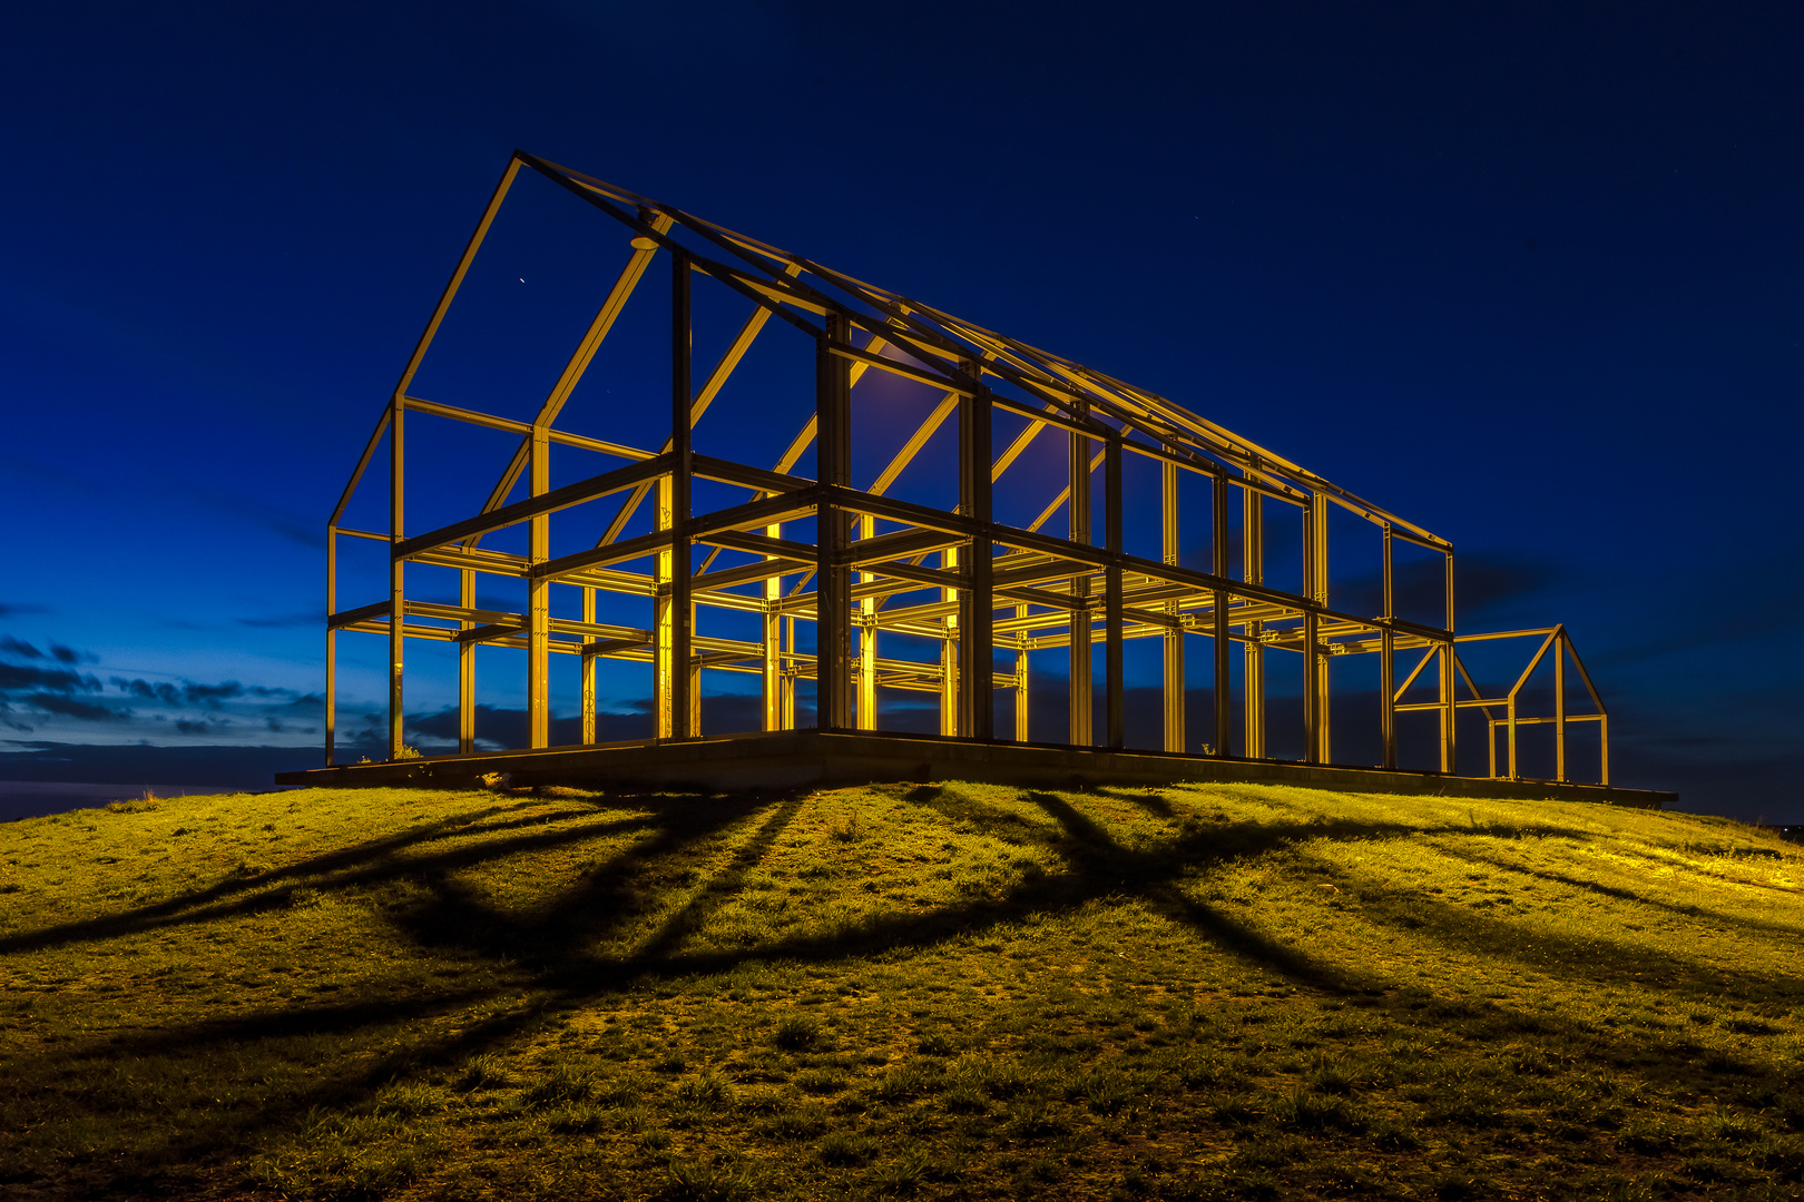
[[[826,315],[814,353],[815,474],[828,487],[851,483],[851,364],[832,353],[832,342],[851,341],[851,321]],[[815,699],[821,730],[851,728],[851,573],[841,562],[846,548],[846,512],[830,496],[815,510]]]

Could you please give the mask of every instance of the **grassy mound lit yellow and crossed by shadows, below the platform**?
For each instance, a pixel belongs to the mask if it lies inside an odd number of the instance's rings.
[[[22,820],[0,1193],[1790,1198],[1800,851],[1257,786]]]

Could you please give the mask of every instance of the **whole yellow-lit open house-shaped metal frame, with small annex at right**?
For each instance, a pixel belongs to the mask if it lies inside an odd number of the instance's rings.
[[[420,362],[464,283],[491,223],[521,169],[536,171],[619,222],[630,241],[626,263],[606,303],[570,355],[530,422],[476,413],[411,395]],[[557,418],[622,306],[653,261],[671,270],[671,425],[664,445],[630,447],[570,433]],[[696,276],[718,281],[749,303],[727,353],[696,380],[691,366],[691,288]],[[776,319],[772,324],[770,319]],[[740,360],[765,337],[805,337],[814,346],[812,414],[769,465],[698,454],[696,422],[709,411]],[[891,373],[934,389],[933,405],[888,467],[862,488],[851,479],[853,398],[870,373]],[[411,416],[467,422],[518,436],[512,458],[482,512],[438,530],[406,533],[406,425]],[[958,505],[933,508],[888,496],[898,474],[947,422],[956,431]],[[998,523],[998,488],[1016,487],[1008,470],[1035,440],[1059,440],[1063,490],[1048,496],[1037,521]],[[364,470],[386,442],[390,530],[345,524]],[[550,487],[550,447],[599,452],[621,465],[577,483]],[[796,474],[814,451],[814,478]],[[1156,474],[1160,553],[1124,548],[1124,472]],[[521,479],[523,499],[509,501]],[[743,490],[740,503],[696,514],[695,481]],[[1057,485],[1061,481],[1054,481]],[[1021,487],[1043,487],[1045,478]],[[1203,497],[1180,505],[1183,496]],[[651,530],[624,535],[646,501]],[[613,505],[603,537],[577,553],[550,555],[552,517],[574,506]],[[1266,510],[1293,506],[1301,519],[1302,587],[1266,584]],[[1194,512],[1192,512],[1194,510]],[[1196,512],[1205,515],[1196,521]],[[1376,528],[1382,613],[1330,607],[1330,514],[1340,510]],[[1063,515],[1063,530],[1043,526]],[[1209,532],[1203,566],[1180,564],[1180,523]],[[644,521],[644,519],[640,519]],[[483,535],[525,524],[529,553],[482,546]],[[1232,528],[1230,528],[1232,524]],[[797,539],[797,526],[812,537]],[[1138,532],[1137,532],[1138,533]],[[390,544],[388,596],[337,609],[339,541]],[[1238,548],[1234,546],[1238,542]],[[1445,580],[1441,625],[1394,613],[1393,550],[1411,544],[1440,557]],[[700,562],[698,562],[700,560]],[[460,604],[410,600],[408,566],[449,568]],[[476,607],[476,573],[527,582],[527,613]],[[1124,647],[1162,643],[1165,751],[1263,759],[1270,701],[1268,660],[1295,654],[1302,667],[1304,762],[1333,762],[1330,701],[1342,656],[1378,660],[1382,766],[1398,766],[1398,719],[1432,715],[1438,769],[1454,771],[1456,717],[1477,708],[1488,721],[1490,775],[1517,777],[1517,737],[1526,724],[1551,724],[1555,779],[1568,779],[1568,728],[1597,723],[1600,775],[1609,780],[1607,717],[1564,627],[1508,634],[1454,634],[1452,544],[1409,521],[1337,488],[1288,460],[1189,413],[1146,389],[1001,337],[949,314],[861,283],[671,205],[516,151],[469,245],[458,260],[426,332],[395,386],[386,411],[328,523],[327,762],[334,762],[336,636],[366,631],[388,638],[388,751],[400,757],[404,647],[437,640],[458,649],[458,753],[476,750],[474,649],[516,647],[527,661],[532,748],[550,741],[550,656],[581,661],[583,742],[595,741],[595,663],[651,665],[657,741],[700,735],[702,672],[761,678],[763,730],[796,726],[797,681],[815,681],[821,730],[877,730],[877,690],[936,694],[940,733],[1028,741],[1028,658],[1068,647],[1068,742],[1124,746]],[[552,586],[581,593],[581,620],[552,616]],[[599,593],[644,598],[648,627],[595,620]],[[761,616],[761,638],[723,638],[698,629],[707,611]],[[797,627],[814,640],[797,642]],[[897,640],[893,636],[911,636]],[[1207,742],[1185,732],[1185,642],[1210,647],[1212,730]],[[1539,636],[1539,651],[1503,697],[1483,697],[1458,654],[1474,640]],[[882,640],[929,647],[936,654],[886,654]],[[925,640],[925,642],[922,642]],[[1100,739],[1091,730],[1093,647],[1102,647]],[[812,645],[814,651],[805,647]],[[1232,656],[1239,656],[1236,665]],[[1553,656],[1553,714],[1523,714],[1524,685]],[[998,665],[1001,658],[1001,665]],[[1588,712],[1568,712],[1566,665],[1589,694]],[[1398,670],[1402,669],[1402,672]],[[1238,679],[1236,679],[1238,678]],[[1461,697],[1465,683],[1470,696]],[[1014,694],[1012,730],[998,732],[994,697]],[[1238,705],[1232,705],[1232,694]],[[1238,715],[1236,710],[1238,708]],[[1234,719],[1239,717],[1236,723]],[[1198,732],[1200,733],[1200,732]],[[1499,773],[1499,737],[1506,746]]]

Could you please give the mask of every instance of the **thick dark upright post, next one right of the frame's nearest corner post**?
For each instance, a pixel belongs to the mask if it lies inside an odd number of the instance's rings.
[[[967,739],[996,737],[996,596],[992,591],[994,548],[990,546],[990,391],[983,364],[960,364],[971,377],[971,396],[958,398],[958,512],[976,523],[971,562],[960,591],[960,697],[958,733]]]

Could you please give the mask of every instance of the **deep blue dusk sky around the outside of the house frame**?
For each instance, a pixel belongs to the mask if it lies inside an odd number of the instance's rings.
[[[1461,629],[1569,624],[1622,784],[1804,822],[1800,50],[1793,4],[20,9],[0,779],[316,746],[323,519],[521,146],[1422,523]]]

